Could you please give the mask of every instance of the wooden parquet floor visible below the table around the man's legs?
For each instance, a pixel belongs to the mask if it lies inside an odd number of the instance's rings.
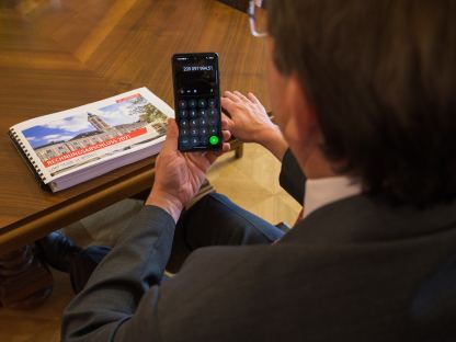
[[[217,192],[226,194],[233,202],[276,224],[292,225],[300,206],[278,185],[280,163],[272,155],[256,145],[247,145],[244,156],[235,159],[232,153],[220,158],[209,172],[209,181]],[[83,220],[69,231],[76,240],[90,242]],[[93,227],[90,229],[93,236]],[[50,298],[39,308],[30,311],[0,309],[0,341],[59,341],[60,317],[72,298],[66,274],[54,272],[55,287]]]

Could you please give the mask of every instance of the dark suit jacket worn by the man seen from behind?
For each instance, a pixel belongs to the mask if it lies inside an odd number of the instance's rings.
[[[300,200],[292,164],[287,152],[281,179]],[[66,309],[65,341],[424,341],[411,300],[456,252],[456,206],[353,196],[277,244],[198,249],[160,284],[173,230],[164,210],[142,209]]]

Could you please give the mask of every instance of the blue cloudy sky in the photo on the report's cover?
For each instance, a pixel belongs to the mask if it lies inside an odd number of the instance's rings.
[[[130,124],[139,119],[138,114],[132,113],[132,100],[110,104],[99,110],[83,111],[46,124],[36,125],[22,130],[22,134],[30,145],[36,149],[50,142],[67,141],[79,134],[95,130],[88,122],[88,112],[99,115],[112,126]]]

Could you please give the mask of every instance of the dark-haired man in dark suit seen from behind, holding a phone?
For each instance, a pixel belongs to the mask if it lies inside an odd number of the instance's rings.
[[[171,122],[146,206],[66,309],[62,339],[454,338],[448,326],[417,330],[413,310],[456,253],[455,10],[451,0],[267,1],[280,129],[253,94],[226,92],[225,136],[282,160],[304,219],[284,233],[218,194],[182,214],[217,156],[180,153]],[[183,236],[197,250],[164,281],[174,229],[175,244]],[[201,248],[212,244],[230,246]]]

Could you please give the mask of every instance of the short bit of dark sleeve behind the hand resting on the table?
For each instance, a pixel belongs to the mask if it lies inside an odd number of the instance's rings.
[[[298,162],[288,149],[282,160],[282,170],[280,175],[281,186],[300,204],[304,203],[304,192],[306,185],[306,175],[299,168]]]

